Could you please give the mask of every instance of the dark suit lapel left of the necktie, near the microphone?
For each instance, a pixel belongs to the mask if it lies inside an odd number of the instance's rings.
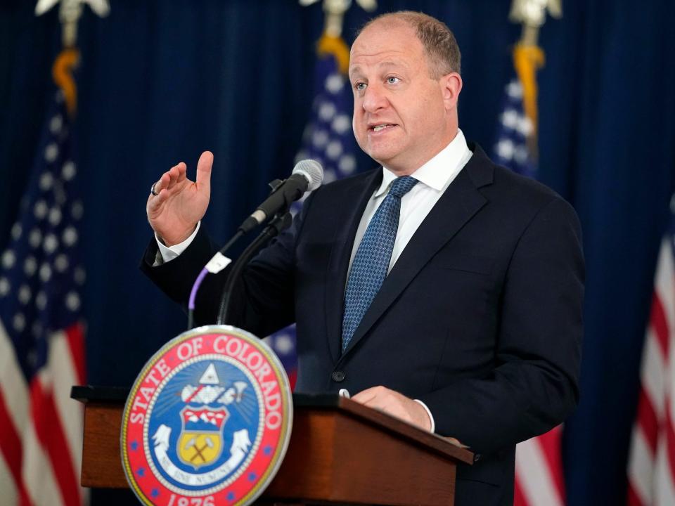
[[[328,349],[333,356],[333,363],[340,359],[342,342],[342,313],[345,306],[345,284],[347,283],[347,271],[349,270],[349,258],[352,256],[354,237],[361,222],[361,216],[373,196],[375,189],[382,183],[382,168],[376,169],[372,174],[367,174],[366,184],[363,179],[352,180],[352,186],[346,188],[347,195],[355,195],[352,200],[349,197],[342,199],[336,206],[346,207],[342,220],[338,223],[333,239],[333,247],[328,259],[326,272],[326,338]],[[352,204],[352,202],[354,202]]]

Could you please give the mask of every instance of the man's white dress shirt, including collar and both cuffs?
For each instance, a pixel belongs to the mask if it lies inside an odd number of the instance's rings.
[[[464,134],[461,130],[458,130],[457,135],[451,143],[446,145],[440,153],[411,174],[411,176],[417,179],[419,183],[413,186],[406,195],[401,197],[399,228],[397,230],[396,239],[394,240],[394,249],[392,250],[389,271],[392,270],[392,266],[394,266],[399,259],[401,252],[403,252],[422,221],[424,221],[431,209],[436,205],[436,202],[438,202],[446,188],[448,188],[450,183],[457,177],[457,174],[459,174],[466,162],[469,161],[471,155],[473,155],[473,153],[471,153],[471,150],[466,144]],[[356,255],[356,249],[359,249],[361,240],[366,233],[366,228],[368,228],[368,223],[371,222],[378,207],[380,207],[382,201],[385,200],[392,181],[397,178],[397,175],[387,169],[387,167],[383,167],[382,171],[382,183],[379,188],[375,190],[375,193],[373,193],[371,200],[368,200],[366,209],[364,209],[364,214],[361,216],[361,222],[356,231],[356,236],[354,237],[352,257],[349,259],[350,270],[352,268],[352,262],[354,261],[354,255]],[[199,227],[200,223],[197,224],[197,228],[195,228],[195,231],[189,238],[180,244],[171,247],[163,245],[157,234],[155,234],[155,239],[157,240],[159,247],[159,254],[155,260],[155,266],[160,265],[163,262],[171,261],[184,252],[195,238],[195,235],[197,235]],[[347,274],[347,276],[349,276],[349,274]],[[430,432],[434,432],[436,424],[429,408],[419,399],[414,399],[414,401],[420,403],[427,412],[431,421]]]

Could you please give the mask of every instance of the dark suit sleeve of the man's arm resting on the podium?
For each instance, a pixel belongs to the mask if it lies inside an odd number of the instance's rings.
[[[563,422],[579,401],[584,260],[581,228],[555,198],[522,233],[506,271],[496,367],[419,396],[436,432],[491,453]]]

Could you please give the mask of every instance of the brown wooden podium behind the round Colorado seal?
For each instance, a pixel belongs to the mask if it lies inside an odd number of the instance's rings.
[[[128,390],[72,387],[84,403],[82,486],[128,488],[120,426]],[[257,504],[452,505],[458,462],[473,453],[333,395],[293,395],[293,432]]]

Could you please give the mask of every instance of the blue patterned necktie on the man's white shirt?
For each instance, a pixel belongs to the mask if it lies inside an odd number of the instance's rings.
[[[352,262],[345,292],[345,315],[342,318],[342,353],[352,340],[368,307],[387,277],[394,240],[399,228],[401,197],[418,183],[412,176],[394,179],[389,193],[368,224],[364,238]]]

